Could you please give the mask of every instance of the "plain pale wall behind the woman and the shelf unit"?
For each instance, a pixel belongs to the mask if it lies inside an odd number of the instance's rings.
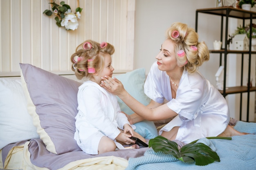
[[[149,72],[165,39],[165,31],[173,22],[183,22],[195,28],[196,9],[214,7],[216,7],[216,0],[136,0],[134,68],[146,68],[146,74]],[[214,40],[220,40],[220,24],[220,16],[198,14],[199,41],[205,41],[209,49],[213,49]],[[234,33],[239,24],[237,19],[229,18],[229,34]],[[227,86],[229,87],[240,84],[240,57],[235,54],[231,55],[227,60]],[[210,60],[199,69],[213,85],[216,85],[215,74],[219,68],[219,56],[219,54],[210,54]],[[255,57],[252,61],[251,76],[255,77]],[[248,64],[245,68],[247,66]],[[247,73],[245,73],[244,81],[246,81],[246,76]],[[250,121],[254,121],[254,95],[254,92],[250,95]],[[228,95],[226,99],[229,103],[231,117],[239,119],[240,95]],[[247,111],[245,101],[247,101],[246,94],[243,95],[243,113]],[[246,120],[244,116],[243,118]]]

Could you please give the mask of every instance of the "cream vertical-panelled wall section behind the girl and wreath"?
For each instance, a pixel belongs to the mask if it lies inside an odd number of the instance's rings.
[[[18,76],[19,63],[29,63],[58,74],[74,74],[70,56],[87,39],[115,46],[115,72],[133,70],[135,0],[65,1],[74,13],[81,7],[74,31],[58,27],[43,14],[52,0],[0,0],[0,76]]]

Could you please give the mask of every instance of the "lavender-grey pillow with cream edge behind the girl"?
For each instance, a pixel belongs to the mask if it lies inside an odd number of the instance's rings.
[[[81,83],[30,64],[20,63],[20,68],[28,112],[47,150],[55,154],[81,150],[74,139]]]

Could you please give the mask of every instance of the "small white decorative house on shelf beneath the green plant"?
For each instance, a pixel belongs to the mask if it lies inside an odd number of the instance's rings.
[[[237,34],[232,41],[234,43],[234,50],[249,50],[249,41],[246,34]]]

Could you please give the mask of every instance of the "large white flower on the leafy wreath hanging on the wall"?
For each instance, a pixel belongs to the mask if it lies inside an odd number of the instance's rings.
[[[65,17],[61,21],[61,26],[65,26],[67,30],[77,29],[78,22],[76,15],[74,13],[67,13],[67,15],[65,15]]]

